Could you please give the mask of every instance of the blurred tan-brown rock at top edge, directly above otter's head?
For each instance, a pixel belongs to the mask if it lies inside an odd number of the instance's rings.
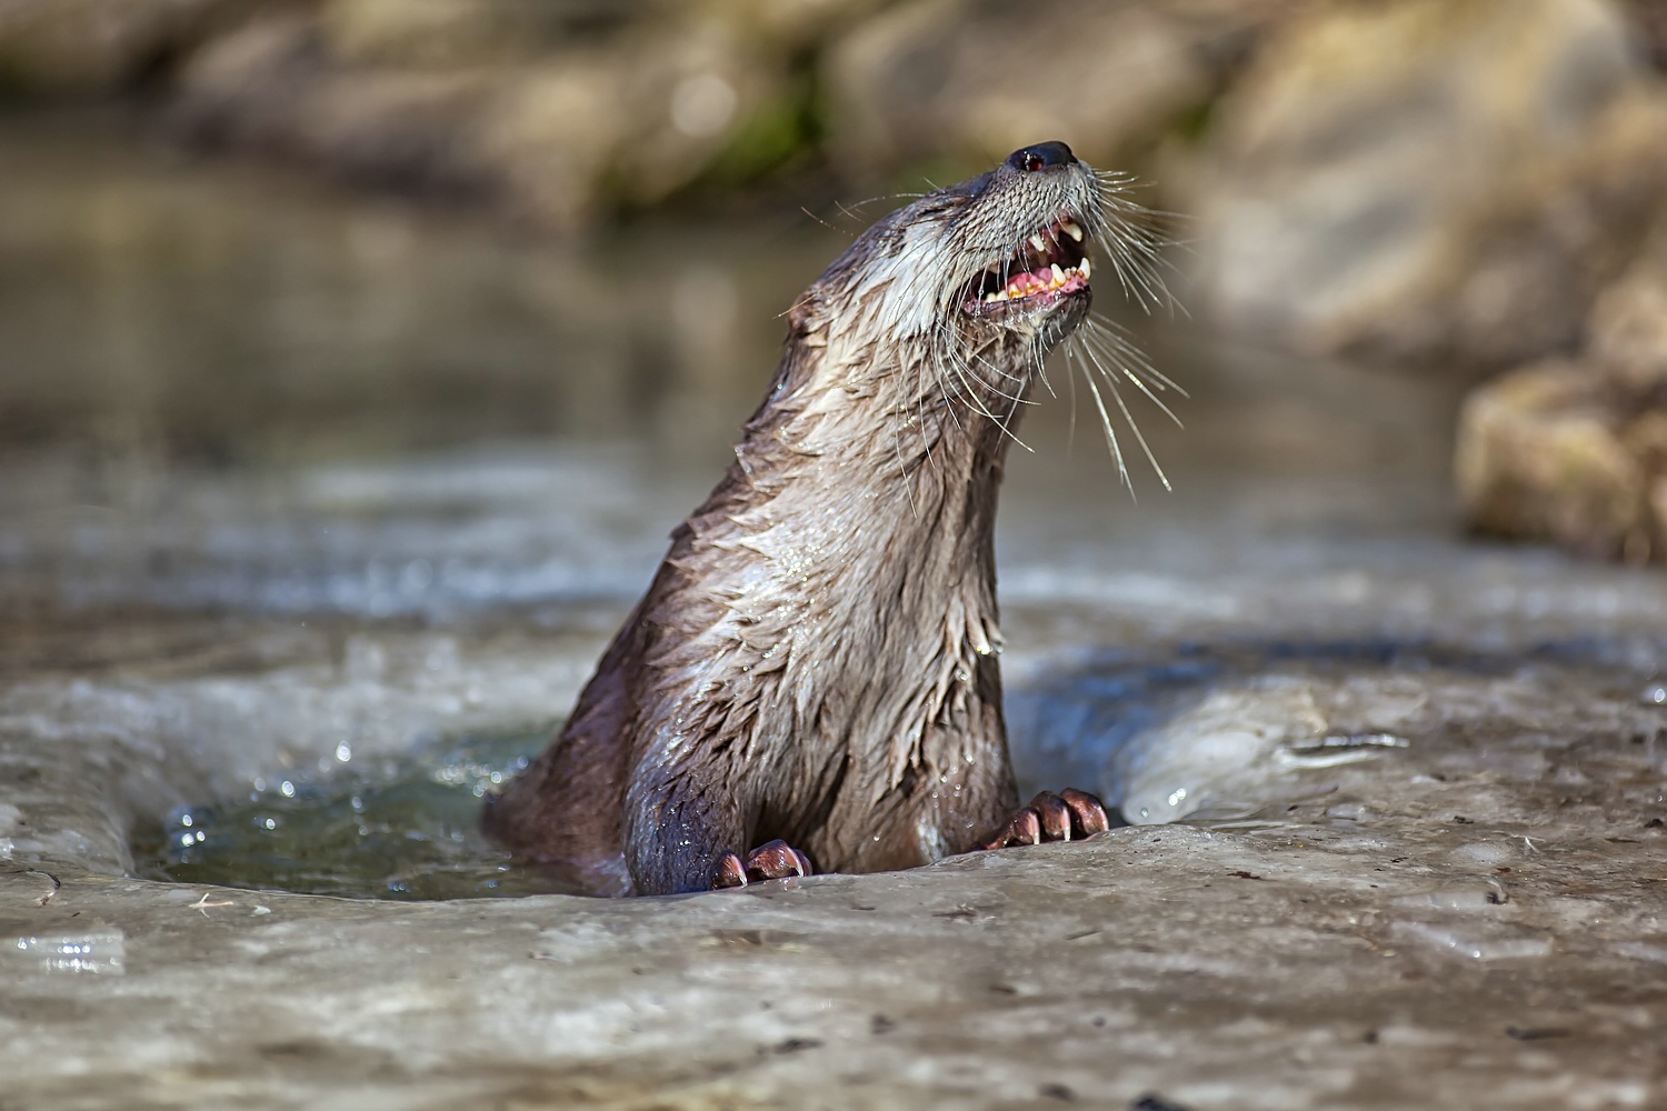
[[[987,162],[1044,138],[1110,163],[1212,93],[1207,45],[1257,3],[914,0],[837,42],[823,67],[844,165],[950,152]]]

